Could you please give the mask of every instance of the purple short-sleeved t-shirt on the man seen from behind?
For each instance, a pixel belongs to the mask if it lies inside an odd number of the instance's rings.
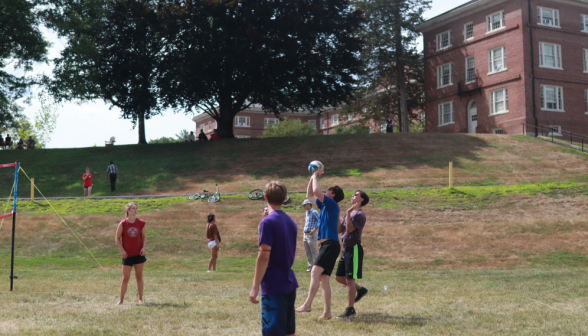
[[[259,244],[272,247],[267,270],[261,280],[261,295],[286,294],[298,288],[292,271],[298,227],[284,211],[274,210],[259,224]]]

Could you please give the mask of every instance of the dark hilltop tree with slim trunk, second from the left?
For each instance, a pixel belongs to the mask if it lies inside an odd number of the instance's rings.
[[[51,92],[58,100],[102,99],[138,125],[159,114],[156,84],[164,41],[149,0],[56,0],[48,18],[68,45],[55,60]]]

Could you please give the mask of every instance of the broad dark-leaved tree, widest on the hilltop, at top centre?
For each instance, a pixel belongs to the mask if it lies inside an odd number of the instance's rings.
[[[208,113],[221,137],[233,118],[321,111],[346,102],[361,69],[355,31],[363,14],[348,0],[169,0],[162,96]]]

